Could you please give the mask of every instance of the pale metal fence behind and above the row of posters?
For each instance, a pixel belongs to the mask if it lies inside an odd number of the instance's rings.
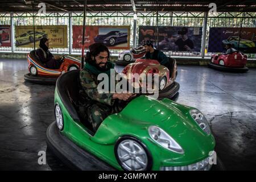
[[[83,13],[48,13],[40,16],[34,14],[35,25],[67,25],[68,26],[68,48],[53,48],[55,53],[81,53],[80,49],[72,48],[72,25],[82,25]],[[156,16],[158,16],[158,21]],[[189,26],[203,27],[202,48],[200,52],[180,52],[167,51],[170,56],[193,56],[193,57],[210,57],[212,52],[208,50],[209,28],[210,27],[240,27],[243,20],[243,27],[256,27],[256,13],[178,13],[178,12],[138,12],[136,34],[134,35],[134,14],[133,12],[87,12],[86,25],[113,25],[113,26],[131,26],[130,46],[138,45],[139,26]],[[33,25],[32,13],[10,13],[0,14],[0,25],[12,26],[12,40],[14,40],[15,26]],[[205,27],[205,30],[204,30]],[[205,36],[204,36],[205,35]],[[135,36],[135,39],[133,39]],[[12,47],[0,47],[1,52],[29,52],[32,48],[16,47],[14,42]],[[122,49],[112,49],[112,53],[119,53]],[[255,58],[255,54],[248,54],[249,58]]]

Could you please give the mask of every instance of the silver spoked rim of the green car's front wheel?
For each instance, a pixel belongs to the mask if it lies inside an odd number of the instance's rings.
[[[122,167],[128,171],[143,171],[147,168],[147,154],[138,142],[127,139],[118,144],[117,155]]]

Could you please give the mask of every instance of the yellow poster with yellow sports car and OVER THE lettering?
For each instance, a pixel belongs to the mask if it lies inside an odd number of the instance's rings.
[[[68,27],[65,25],[35,26],[36,47],[39,46],[39,40],[42,38],[49,39],[51,48],[68,47]],[[33,26],[15,26],[15,46],[34,47]]]

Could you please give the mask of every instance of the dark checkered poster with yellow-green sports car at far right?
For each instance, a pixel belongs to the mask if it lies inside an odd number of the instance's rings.
[[[256,28],[210,27],[208,52],[223,52],[226,44],[243,53],[256,53]]]

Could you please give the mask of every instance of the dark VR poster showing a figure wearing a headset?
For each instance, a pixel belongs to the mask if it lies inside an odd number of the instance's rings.
[[[158,42],[156,26],[139,26],[139,44],[144,40],[152,40],[154,46],[163,51],[200,52],[202,27],[158,27]],[[159,45],[159,47],[158,47]]]

